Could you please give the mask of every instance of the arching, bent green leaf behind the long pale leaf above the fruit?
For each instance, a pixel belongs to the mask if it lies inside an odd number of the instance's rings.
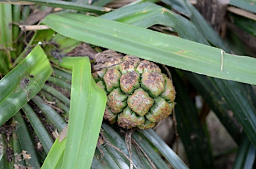
[[[101,15],[101,18],[144,28],[151,27],[152,25],[165,25],[173,27],[179,34],[179,37],[183,39],[208,44],[193,23],[173,11],[154,3],[139,3],[123,7],[117,11]]]

